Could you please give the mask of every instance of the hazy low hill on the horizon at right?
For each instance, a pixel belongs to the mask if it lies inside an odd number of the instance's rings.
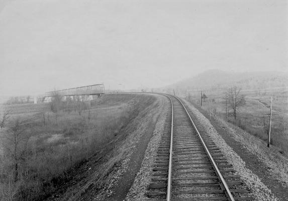
[[[283,72],[227,72],[207,70],[164,88],[227,88],[237,85],[242,89],[262,89],[288,86],[288,75]]]

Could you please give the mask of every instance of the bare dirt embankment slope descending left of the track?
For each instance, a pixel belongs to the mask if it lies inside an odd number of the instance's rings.
[[[127,95],[114,94],[101,101],[113,105],[117,98],[126,98]],[[133,96],[132,102],[138,106],[135,117],[99,153],[77,167],[70,179],[58,186],[47,200],[125,199],[166,101],[165,97],[157,94]]]

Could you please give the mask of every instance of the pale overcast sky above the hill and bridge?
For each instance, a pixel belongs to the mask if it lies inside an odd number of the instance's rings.
[[[0,0],[0,94],[286,73],[287,11],[286,0]]]

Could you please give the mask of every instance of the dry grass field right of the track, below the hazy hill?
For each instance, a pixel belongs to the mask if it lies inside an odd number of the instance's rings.
[[[203,101],[202,108],[226,119],[225,91],[207,91],[208,98]],[[228,121],[242,128],[248,133],[267,141],[269,127],[270,97],[272,100],[271,144],[278,147],[284,154],[288,154],[288,91],[285,88],[266,90],[242,91],[246,103],[239,107],[237,118],[234,120],[232,111],[229,111]],[[200,105],[200,98],[190,94],[190,101]]]

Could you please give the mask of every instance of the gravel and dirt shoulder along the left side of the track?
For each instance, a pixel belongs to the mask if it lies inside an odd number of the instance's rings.
[[[142,175],[143,172],[146,172],[141,169],[141,166],[143,163],[145,164],[147,162],[145,160],[147,156],[147,150],[150,150],[151,142],[153,142],[153,139],[155,139],[155,136],[157,136],[159,133],[158,130],[159,127],[161,127],[162,122],[164,123],[163,114],[167,106],[165,104],[166,98],[162,95],[156,95],[158,97],[160,106],[156,111],[153,112],[153,114],[148,114],[147,117],[145,117],[145,119],[149,119],[149,121],[147,121],[147,123],[142,122],[142,126],[139,128],[140,132],[131,136],[133,141],[135,141],[133,149],[127,156],[125,165],[123,165],[123,168],[121,168],[121,171],[119,172],[119,179],[117,179],[117,182],[112,186],[112,188],[110,188],[112,193],[109,195],[109,197],[106,196],[105,200],[124,200],[125,197],[129,197],[129,192],[131,192],[131,189],[135,189],[133,187],[131,188],[131,186],[134,186],[135,183],[139,181],[139,175]],[[154,151],[154,153],[156,153],[156,151]],[[147,179],[146,176],[144,179],[141,178],[141,181],[145,181],[145,179]],[[143,185],[143,183],[137,184],[137,187],[138,189],[140,188],[142,192],[146,189],[146,186]],[[139,195],[139,192],[136,193]],[[133,200],[142,199],[136,198]]]

